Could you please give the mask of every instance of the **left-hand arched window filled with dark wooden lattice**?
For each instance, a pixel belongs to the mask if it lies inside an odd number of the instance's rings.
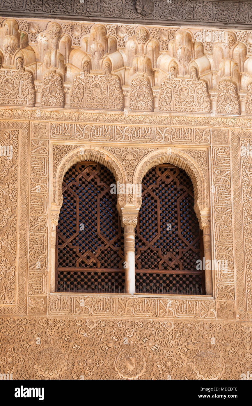
[[[112,173],[83,161],[66,172],[55,250],[58,292],[124,292],[123,234]]]

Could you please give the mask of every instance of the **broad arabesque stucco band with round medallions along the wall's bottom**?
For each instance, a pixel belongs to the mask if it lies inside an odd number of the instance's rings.
[[[188,319],[5,317],[0,361],[3,373],[25,380],[237,380],[252,369],[251,328]]]

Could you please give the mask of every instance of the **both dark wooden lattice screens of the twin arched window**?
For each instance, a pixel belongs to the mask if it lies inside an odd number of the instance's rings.
[[[55,251],[58,292],[124,293],[123,229],[112,173],[102,164],[78,162],[63,179]],[[142,180],[135,240],[136,292],[204,294],[199,222],[193,185],[177,166],[151,168]]]

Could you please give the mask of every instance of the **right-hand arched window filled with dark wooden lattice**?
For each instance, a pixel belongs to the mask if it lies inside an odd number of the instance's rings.
[[[182,169],[162,164],[146,173],[136,228],[136,292],[204,294],[203,271],[196,268],[203,238],[193,206],[193,184]]]

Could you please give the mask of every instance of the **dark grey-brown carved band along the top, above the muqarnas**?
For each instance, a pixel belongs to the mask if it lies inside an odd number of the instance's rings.
[[[29,2],[23,0],[19,5],[14,5],[11,0],[1,0],[1,11],[4,15],[15,16],[21,12],[25,17],[43,18],[66,18],[78,21],[106,21],[109,22],[131,22],[137,21],[139,24],[194,24],[206,25],[212,24],[214,27],[237,26],[241,29],[251,28],[252,6],[247,1],[221,1],[214,0],[206,3],[204,0],[187,0],[184,4],[180,2],[172,4],[164,1],[155,6],[153,0],[117,0],[116,2],[105,0],[90,0],[89,2],[80,2],[73,0],[69,3],[63,0],[62,3],[55,2],[42,3]],[[73,22],[73,25],[76,23]],[[66,24],[67,25],[67,24]],[[36,26],[33,30],[36,30]],[[78,35],[78,30],[75,31]]]

